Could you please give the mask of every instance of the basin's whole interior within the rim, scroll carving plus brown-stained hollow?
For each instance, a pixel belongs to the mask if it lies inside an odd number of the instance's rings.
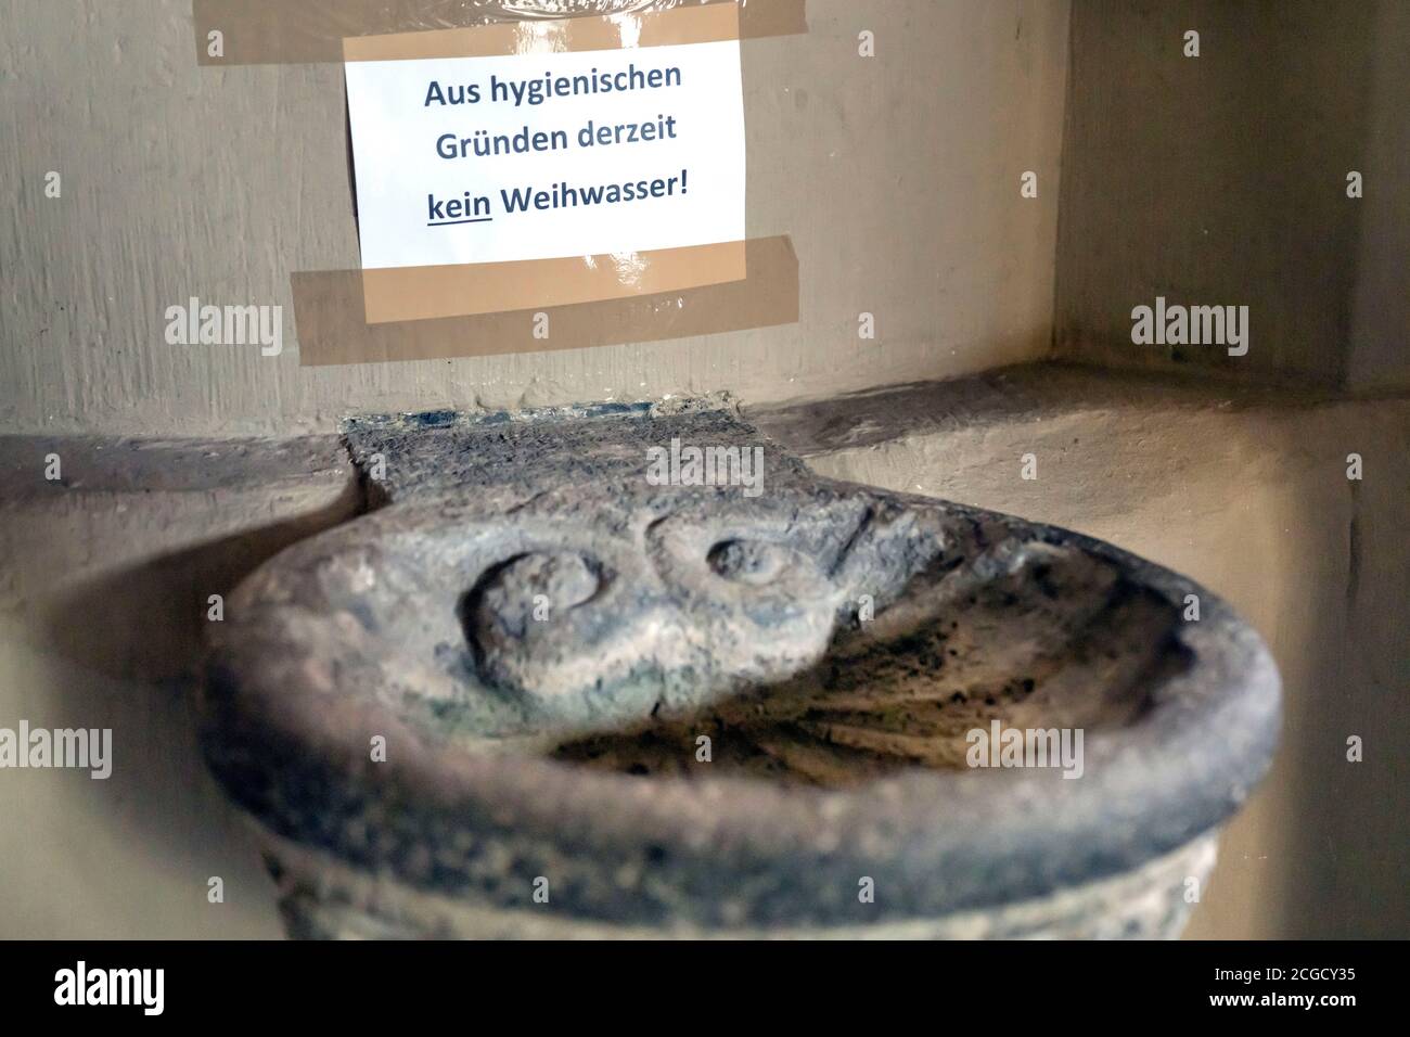
[[[991,720],[1120,725],[1149,691],[1138,676],[1186,665],[1176,610],[1110,562],[860,491],[804,504],[474,535],[399,511],[375,556],[324,543],[292,593],[316,588],[307,643],[362,674],[344,694],[427,739],[637,775],[689,776],[702,734],[721,773],[840,786],[959,768]]]

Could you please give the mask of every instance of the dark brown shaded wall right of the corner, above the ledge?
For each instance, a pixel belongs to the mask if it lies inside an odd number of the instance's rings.
[[[1404,0],[1087,0],[1072,14],[1058,354],[1410,385]],[[1134,344],[1131,310],[1158,295],[1248,306],[1248,354]]]

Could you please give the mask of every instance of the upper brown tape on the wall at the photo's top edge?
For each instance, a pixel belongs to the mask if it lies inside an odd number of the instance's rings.
[[[807,0],[701,0],[702,7],[726,4],[737,6],[742,40],[808,31]],[[602,11],[580,14],[598,17]],[[192,21],[200,65],[343,62],[343,41],[351,37],[499,23],[515,32],[546,24],[474,0],[192,0]],[[220,32],[220,56],[210,54],[212,32]]]

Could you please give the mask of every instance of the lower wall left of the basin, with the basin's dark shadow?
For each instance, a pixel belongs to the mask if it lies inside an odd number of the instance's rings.
[[[62,483],[35,475],[51,451]],[[278,935],[196,741],[202,628],[212,594],[228,601],[251,569],[361,511],[345,459],[327,444],[10,437],[0,483],[0,715],[113,731],[107,780],[6,782],[0,828],[25,838],[0,839],[0,937]]]

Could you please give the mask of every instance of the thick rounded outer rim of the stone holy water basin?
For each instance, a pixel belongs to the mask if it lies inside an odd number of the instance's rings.
[[[845,485],[845,484],[838,484]],[[987,514],[909,494],[895,499]],[[361,543],[357,519],[338,530]],[[702,866],[771,868],[799,876],[819,868],[883,878],[901,893],[894,909],[949,911],[1039,896],[1120,873],[1225,821],[1266,770],[1277,736],[1279,679],[1258,635],[1217,595],[1190,580],[1079,533],[1012,516],[1015,529],[1055,538],[1115,563],[1127,578],[1176,607],[1200,595],[1203,618],[1177,626],[1191,666],[1131,727],[1089,732],[1086,776],[1053,772],[914,770],[852,789],[778,787],[742,777],[643,779],[532,756],[470,755],[426,744],[389,710],[365,700],[298,701],[286,687],[243,684],[235,703],[217,648],[207,691],[207,745],[233,794],[281,835],[300,838],[269,813],[228,749],[262,759],[278,782],[286,768],[314,768],[413,810],[426,824],[513,832],[556,852],[630,861],[660,856],[667,882]],[[309,543],[309,542],[305,542]],[[298,550],[295,545],[290,550]],[[221,633],[234,633],[221,631]],[[265,632],[272,643],[278,632]],[[299,645],[283,642],[285,650]],[[326,722],[333,714],[344,722]],[[384,729],[391,759],[369,765],[364,735]],[[312,731],[319,732],[310,753]],[[747,793],[747,794],[746,794]],[[326,804],[336,810],[337,804]],[[378,862],[367,862],[382,866]],[[392,862],[382,862],[392,863]],[[395,868],[395,865],[392,865]],[[955,876],[935,883],[935,873]],[[420,876],[403,875],[417,883]],[[938,889],[929,889],[936,887]],[[922,887],[929,889],[921,896]],[[915,893],[908,897],[907,892]],[[924,903],[922,903],[924,902]],[[888,909],[890,910],[890,909]]]

